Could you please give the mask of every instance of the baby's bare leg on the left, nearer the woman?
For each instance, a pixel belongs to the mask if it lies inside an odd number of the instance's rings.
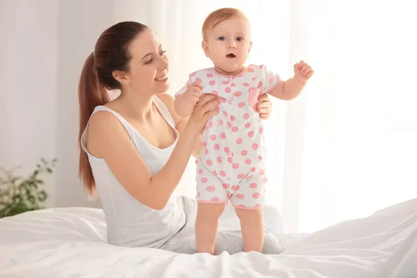
[[[214,254],[219,218],[223,211],[224,204],[199,203],[197,205],[195,241],[197,243],[198,253]]]

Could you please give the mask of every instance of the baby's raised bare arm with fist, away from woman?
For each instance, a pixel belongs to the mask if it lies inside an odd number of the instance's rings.
[[[294,65],[294,72],[293,78],[279,82],[277,87],[269,95],[283,100],[291,100],[298,97],[307,81],[314,74],[314,71],[311,70],[311,67],[307,63],[301,61]]]

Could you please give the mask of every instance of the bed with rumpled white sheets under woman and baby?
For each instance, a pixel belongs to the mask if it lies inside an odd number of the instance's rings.
[[[106,243],[100,209],[47,208],[0,220],[0,277],[417,277],[417,198],[311,234],[275,236],[277,255],[117,247]]]

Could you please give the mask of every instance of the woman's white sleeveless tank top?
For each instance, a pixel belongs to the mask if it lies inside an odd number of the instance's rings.
[[[177,144],[179,132],[175,129],[174,119],[163,101],[156,96],[153,101],[158,111],[174,130],[175,142],[165,149],[150,145],[119,113],[106,106],[97,106],[92,115],[99,111],[108,111],[115,115],[129,133],[133,145],[147,163],[149,170],[152,174],[156,174],[170,158],[172,150]],[[90,120],[88,124],[90,124]],[[103,158],[92,156],[87,151],[88,124],[81,137],[81,147],[88,154],[97,186],[97,194],[106,215],[108,243],[130,247],[162,248],[186,222],[182,199],[171,197],[165,208],[157,211],[133,198],[117,181],[106,161]]]

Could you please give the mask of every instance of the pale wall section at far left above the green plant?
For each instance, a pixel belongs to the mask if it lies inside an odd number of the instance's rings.
[[[0,167],[26,175],[57,155],[58,2],[1,1],[0,18]]]

